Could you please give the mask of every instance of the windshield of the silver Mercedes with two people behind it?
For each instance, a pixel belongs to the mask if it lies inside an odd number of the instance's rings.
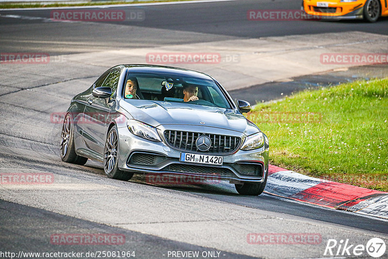
[[[182,102],[231,109],[212,80],[158,73],[129,73],[123,89],[125,99]]]

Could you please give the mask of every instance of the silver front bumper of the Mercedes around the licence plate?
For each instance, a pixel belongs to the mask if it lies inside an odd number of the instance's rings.
[[[265,175],[268,172],[267,138],[265,140],[266,144],[258,149],[243,151],[238,148],[233,153],[209,154],[223,157],[223,165],[214,166],[180,162],[181,152],[197,152],[184,151],[170,146],[162,135],[162,132],[166,129],[165,127],[173,130],[182,129],[181,125],[160,126],[158,131],[162,142],[153,142],[133,135],[127,127],[118,128],[118,167],[121,170],[133,173],[180,174],[217,178],[234,183],[264,181]],[[185,126],[185,130],[244,137],[244,134],[240,132],[206,126]]]

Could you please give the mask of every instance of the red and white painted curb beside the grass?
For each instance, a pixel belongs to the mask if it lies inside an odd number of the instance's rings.
[[[308,177],[269,165],[265,192],[318,206],[388,219],[388,193]]]

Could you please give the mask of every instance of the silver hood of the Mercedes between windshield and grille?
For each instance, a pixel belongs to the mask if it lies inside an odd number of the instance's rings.
[[[230,129],[250,135],[258,127],[234,110],[178,102],[150,100],[120,100],[120,106],[135,120],[157,127],[159,125],[196,125]]]

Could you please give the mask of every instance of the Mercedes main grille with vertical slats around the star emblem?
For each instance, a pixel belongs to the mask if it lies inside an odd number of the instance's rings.
[[[231,153],[240,146],[241,139],[235,136],[203,134],[198,132],[165,130],[164,137],[170,146],[182,150],[201,152],[195,142],[199,136],[206,135],[211,140],[211,146],[206,153]]]

